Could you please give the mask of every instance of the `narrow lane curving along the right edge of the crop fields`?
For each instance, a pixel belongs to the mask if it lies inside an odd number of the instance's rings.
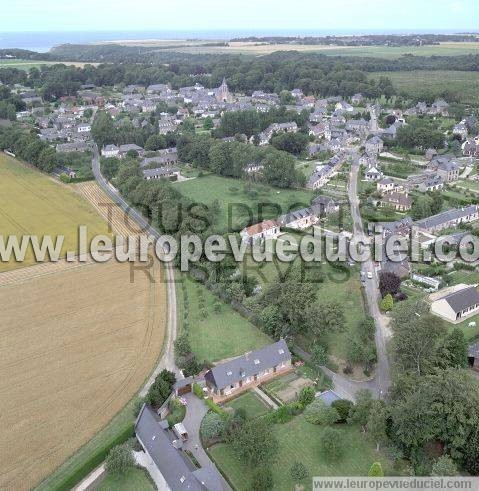
[[[103,177],[100,171],[100,156],[98,153],[98,147],[93,147],[92,158],[92,170],[98,185],[105,191],[105,193],[120,206],[128,216],[133,219],[147,235],[151,235],[155,238],[160,237],[160,232],[152,227],[148,221],[140,215],[136,210],[130,207],[130,205],[122,198],[118,191]],[[163,344],[163,351],[158,361],[158,365],[151,377],[145,383],[140,391],[140,396],[145,396],[149,387],[154,382],[156,375],[166,368],[180,376],[180,371],[175,363],[174,346],[173,343],[176,339],[177,333],[177,311],[176,311],[176,288],[175,288],[175,273],[171,263],[163,263],[166,266],[166,282],[167,282],[167,298],[168,298],[168,321],[167,321],[167,333],[166,339]]]

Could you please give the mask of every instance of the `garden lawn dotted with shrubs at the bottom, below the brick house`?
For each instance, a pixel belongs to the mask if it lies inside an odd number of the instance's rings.
[[[310,476],[367,476],[371,464],[380,461],[385,475],[393,473],[391,463],[366,439],[357,426],[338,425],[344,454],[335,462],[322,455],[319,441],[324,427],[308,423],[303,416],[291,422],[272,427],[279,443],[279,452],[274,459],[273,471],[275,490],[291,491],[294,482],[290,468],[294,462],[302,462]],[[240,462],[230,446],[225,443],[210,449],[215,462],[238,491],[251,489],[251,467]],[[309,487],[307,487],[309,489]]]

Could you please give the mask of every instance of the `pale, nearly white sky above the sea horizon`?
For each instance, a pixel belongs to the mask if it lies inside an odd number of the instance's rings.
[[[0,11],[0,36],[85,30],[479,30],[478,0],[0,0]]]

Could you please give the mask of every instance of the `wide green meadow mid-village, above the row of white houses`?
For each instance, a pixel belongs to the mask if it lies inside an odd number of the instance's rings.
[[[210,205],[215,200],[219,203],[218,231],[227,231],[231,226],[240,230],[249,222],[277,218],[291,209],[309,206],[313,197],[310,191],[276,189],[215,175],[178,182],[175,187],[198,203]]]

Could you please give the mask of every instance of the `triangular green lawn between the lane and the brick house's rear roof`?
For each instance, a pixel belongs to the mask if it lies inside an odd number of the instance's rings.
[[[230,305],[220,303],[203,285],[184,277],[188,296],[189,339],[193,352],[199,360],[218,361],[238,356],[271,343],[271,339],[253,326]],[[184,305],[181,289],[179,301]],[[200,308],[200,297],[204,298],[205,318]],[[180,305],[183,309],[183,306]],[[184,310],[183,310],[184,311]]]

